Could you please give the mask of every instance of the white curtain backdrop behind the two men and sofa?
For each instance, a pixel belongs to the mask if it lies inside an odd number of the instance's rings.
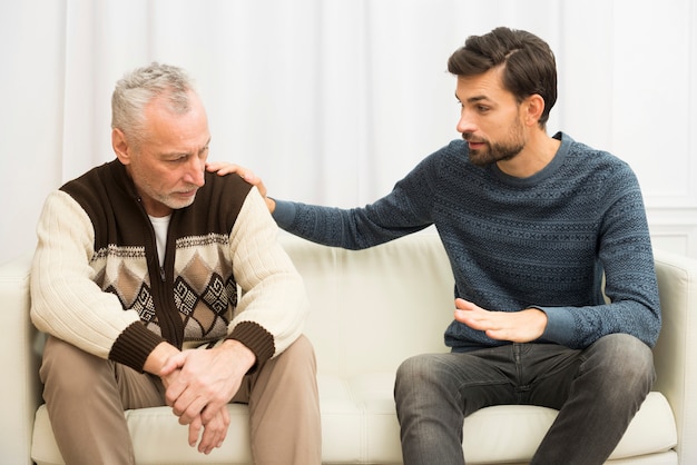
[[[254,169],[276,197],[351,207],[459,137],[448,57],[497,26],[554,50],[550,132],[615,152],[649,207],[695,218],[696,10],[689,0],[4,0],[0,263],[33,247],[50,190],[114,158],[110,93],[132,68],[192,73],[212,159]]]

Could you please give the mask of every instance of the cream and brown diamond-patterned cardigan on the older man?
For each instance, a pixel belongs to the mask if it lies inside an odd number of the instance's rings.
[[[234,338],[263,363],[300,335],[306,311],[276,235],[256,188],[207,174],[194,204],[173,211],[160,267],[153,225],[115,160],[47,199],[32,321],[136,369],[163,340],[187,348]]]

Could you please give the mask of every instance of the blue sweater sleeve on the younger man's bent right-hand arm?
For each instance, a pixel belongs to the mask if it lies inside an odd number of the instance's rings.
[[[646,211],[638,181],[625,166],[598,205],[605,205],[599,258],[609,303],[583,307],[538,307],[548,316],[543,338],[583,348],[615,333],[632,335],[649,347],[658,339],[661,315]]]

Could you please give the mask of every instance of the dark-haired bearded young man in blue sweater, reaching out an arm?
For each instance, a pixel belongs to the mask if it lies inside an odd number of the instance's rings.
[[[639,185],[613,156],[547,135],[557,70],[538,37],[470,37],[448,67],[462,140],[365,208],[267,205],[282,228],[351,249],[435,225],[455,278],[452,350],[396,374],[405,464],[464,463],[463,418],[500,404],[559,409],[532,464],[602,464],[655,377],[660,309]]]

